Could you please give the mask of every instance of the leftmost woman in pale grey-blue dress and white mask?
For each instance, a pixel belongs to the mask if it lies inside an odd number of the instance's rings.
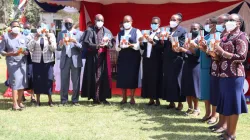
[[[4,34],[0,44],[0,53],[6,57],[7,71],[9,73],[9,82],[12,89],[13,110],[22,110],[25,106],[22,104],[24,89],[28,87],[27,82],[27,56],[25,50],[25,36],[20,33],[20,24],[18,21],[10,23],[11,32]]]

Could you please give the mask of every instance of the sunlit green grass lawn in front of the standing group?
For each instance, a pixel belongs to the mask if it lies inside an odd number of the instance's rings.
[[[81,106],[48,107],[42,96],[42,107],[29,102],[24,111],[11,111],[11,100],[4,99],[5,61],[0,59],[0,140],[216,140],[199,118],[185,117],[184,112],[167,110],[165,101],[160,107],[148,107],[148,100],[137,98],[137,105],[120,106],[115,96],[112,105],[92,105],[80,99]],[[53,96],[56,104],[60,97]],[[250,106],[248,106],[250,107]],[[187,109],[185,104],[184,110]],[[237,138],[250,139],[250,115],[240,117]]]

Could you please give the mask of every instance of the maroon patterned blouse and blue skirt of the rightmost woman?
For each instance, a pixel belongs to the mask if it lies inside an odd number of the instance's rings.
[[[245,70],[243,62],[247,57],[248,42],[246,35],[238,30],[233,35],[227,36],[221,41],[224,51],[232,53],[231,57],[222,55],[219,63],[220,96],[217,112],[230,116],[234,114],[247,113],[247,105],[243,93]]]

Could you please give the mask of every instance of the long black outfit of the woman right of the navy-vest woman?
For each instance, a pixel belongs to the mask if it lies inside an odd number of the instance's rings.
[[[143,43],[143,76],[142,92],[143,98],[158,99],[162,91],[162,53],[163,44],[159,41],[159,34],[154,37],[155,45],[152,46],[151,55],[147,57],[148,43]]]

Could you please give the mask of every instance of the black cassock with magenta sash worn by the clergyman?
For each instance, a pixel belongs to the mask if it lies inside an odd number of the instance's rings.
[[[87,52],[81,96],[99,101],[111,98],[112,79],[109,48],[112,48],[113,45],[109,42],[104,48],[96,48],[101,43],[105,33],[112,36],[112,33],[105,27],[100,30],[89,27],[82,37],[83,47],[87,48]],[[113,39],[113,36],[111,38]]]

